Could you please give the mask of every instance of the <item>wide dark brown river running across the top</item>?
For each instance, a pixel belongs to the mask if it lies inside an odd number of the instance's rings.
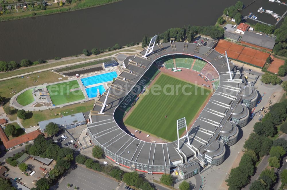
[[[152,36],[171,27],[214,25],[223,9],[236,1],[123,0],[67,13],[1,22],[0,60],[19,62],[23,58],[34,61],[65,57],[80,54],[84,48],[140,42],[145,34]],[[243,0],[245,5],[250,2],[252,0]],[[256,6],[256,10],[258,8]]]

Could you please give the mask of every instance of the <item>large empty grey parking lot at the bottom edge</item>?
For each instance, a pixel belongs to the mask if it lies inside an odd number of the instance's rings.
[[[81,166],[76,166],[71,170],[56,189],[66,190],[68,183],[72,185],[71,189],[77,187],[82,190],[111,190],[119,185],[117,181]]]

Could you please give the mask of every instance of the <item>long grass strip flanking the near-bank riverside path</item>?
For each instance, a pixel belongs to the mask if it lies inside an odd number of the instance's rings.
[[[30,72],[36,72],[36,71],[42,70],[42,69],[49,69],[49,68],[53,68],[53,67],[57,67],[57,66],[73,64],[73,63],[77,63],[77,62],[81,62],[81,61],[87,61],[87,60],[91,60],[91,59],[99,59],[99,58],[103,58],[103,57],[107,57],[107,56],[112,56],[114,54],[121,53],[121,52],[135,52],[135,51],[129,50],[129,49],[122,49],[122,50],[113,51],[113,52],[106,53],[106,54],[100,54],[98,56],[89,56],[88,58],[77,58],[77,59],[63,60],[63,61],[60,60],[59,62],[55,62],[55,63],[46,63],[46,64],[40,64],[37,66],[28,67],[28,68],[20,68],[20,69],[17,69],[15,71],[0,73],[0,79],[7,78],[7,77],[13,77],[13,76],[17,76],[17,75],[22,75],[22,74],[26,74],[26,73],[30,73]],[[47,82],[47,83],[49,83],[49,82]],[[33,84],[31,84],[30,86],[33,86]]]

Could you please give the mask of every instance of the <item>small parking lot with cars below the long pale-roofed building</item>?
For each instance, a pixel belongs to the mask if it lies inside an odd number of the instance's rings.
[[[61,136],[65,136],[64,138]],[[53,138],[54,142],[60,147],[68,147],[74,150],[79,149],[76,139],[73,138],[66,130],[60,130]],[[70,142],[71,141],[71,142]]]

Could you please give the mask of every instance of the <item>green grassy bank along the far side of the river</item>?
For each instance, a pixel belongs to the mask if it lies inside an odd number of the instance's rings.
[[[77,2],[71,1],[71,4],[64,3],[63,6],[59,6],[57,3],[48,3],[49,5],[46,6],[46,10],[36,10],[36,11],[29,10],[31,8],[28,6],[28,10],[26,11],[22,11],[22,9],[19,9],[17,12],[15,9],[12,9],[11,10],[12,13],[1,15],[0,21],[16,20],[16,19],[49,15],[49,14],[54,14],[54,13],[67,12],[67,11],[75,11],[79,9],[89,8],[89,7],[97,7],[100,5],[106,5],[106,4],[114,3],[117,1],[121,1],[121,0],[82,0],[82,1],[77,1]],[[36,13],[36,15],[32,15],[32,13]]]

